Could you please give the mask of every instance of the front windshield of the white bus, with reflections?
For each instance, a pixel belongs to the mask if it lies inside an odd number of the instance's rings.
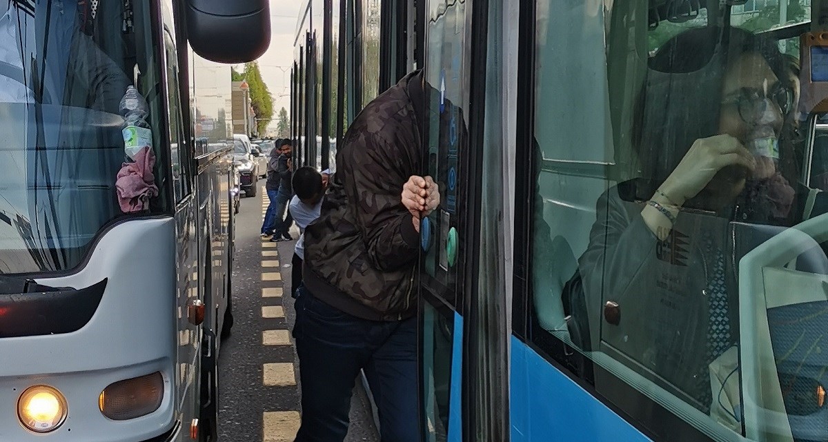
[[[141,193],[142,184],[130,176],[116,185],[122,166],[128,172],[121,99],[135,79],[144,96],[161,90],[149,6],[2,3],[0,274],[69,270],[83,260],[105,224],[128,213],[165,211],[156,92],[147,97],[144,118],[155,161],[147,155],[133,167],[145,171],[147,189],[157,189]],[[142,209],[124,209],[119,188],[143,198]],[[122,193],[122,199],[125,195],[130,196]]]

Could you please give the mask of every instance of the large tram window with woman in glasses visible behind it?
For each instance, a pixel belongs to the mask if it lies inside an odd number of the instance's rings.
[[[828,199],[802,182],[798,37],[704,10],[643,32],[615,5],[606,50],[604,22],[537,3],[529,339],[648,429],[828,440]]]

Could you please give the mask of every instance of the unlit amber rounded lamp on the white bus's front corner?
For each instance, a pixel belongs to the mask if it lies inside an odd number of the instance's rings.
[[[101,392],[98,406],[109,419],[128,420],[158,410],[163,397],[164,378],[161,372],[154,372],[109,385]]]

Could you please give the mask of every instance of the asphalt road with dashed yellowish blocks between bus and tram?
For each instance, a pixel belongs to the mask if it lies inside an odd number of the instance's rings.
[[[233,268],[235,323],[219,353],[219,442],[291,442],[301,413],[299,362],[290,329],[293,242],[262,241],[264,181],[242,198]],[[298,237],[296,226],[292,232]],[[356,380],[347,442],[378,441],[371,406]]]

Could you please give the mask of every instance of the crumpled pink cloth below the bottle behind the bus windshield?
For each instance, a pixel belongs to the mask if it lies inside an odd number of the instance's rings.
[[[118,192],[118,205],[125,214],[141,212],[149,208],[149,199],[158,196],[158,186],[155,185],[155,154],[152,149],[144,147],[135,156],[135,162],[123,163],[115,180],[115,190]]]

